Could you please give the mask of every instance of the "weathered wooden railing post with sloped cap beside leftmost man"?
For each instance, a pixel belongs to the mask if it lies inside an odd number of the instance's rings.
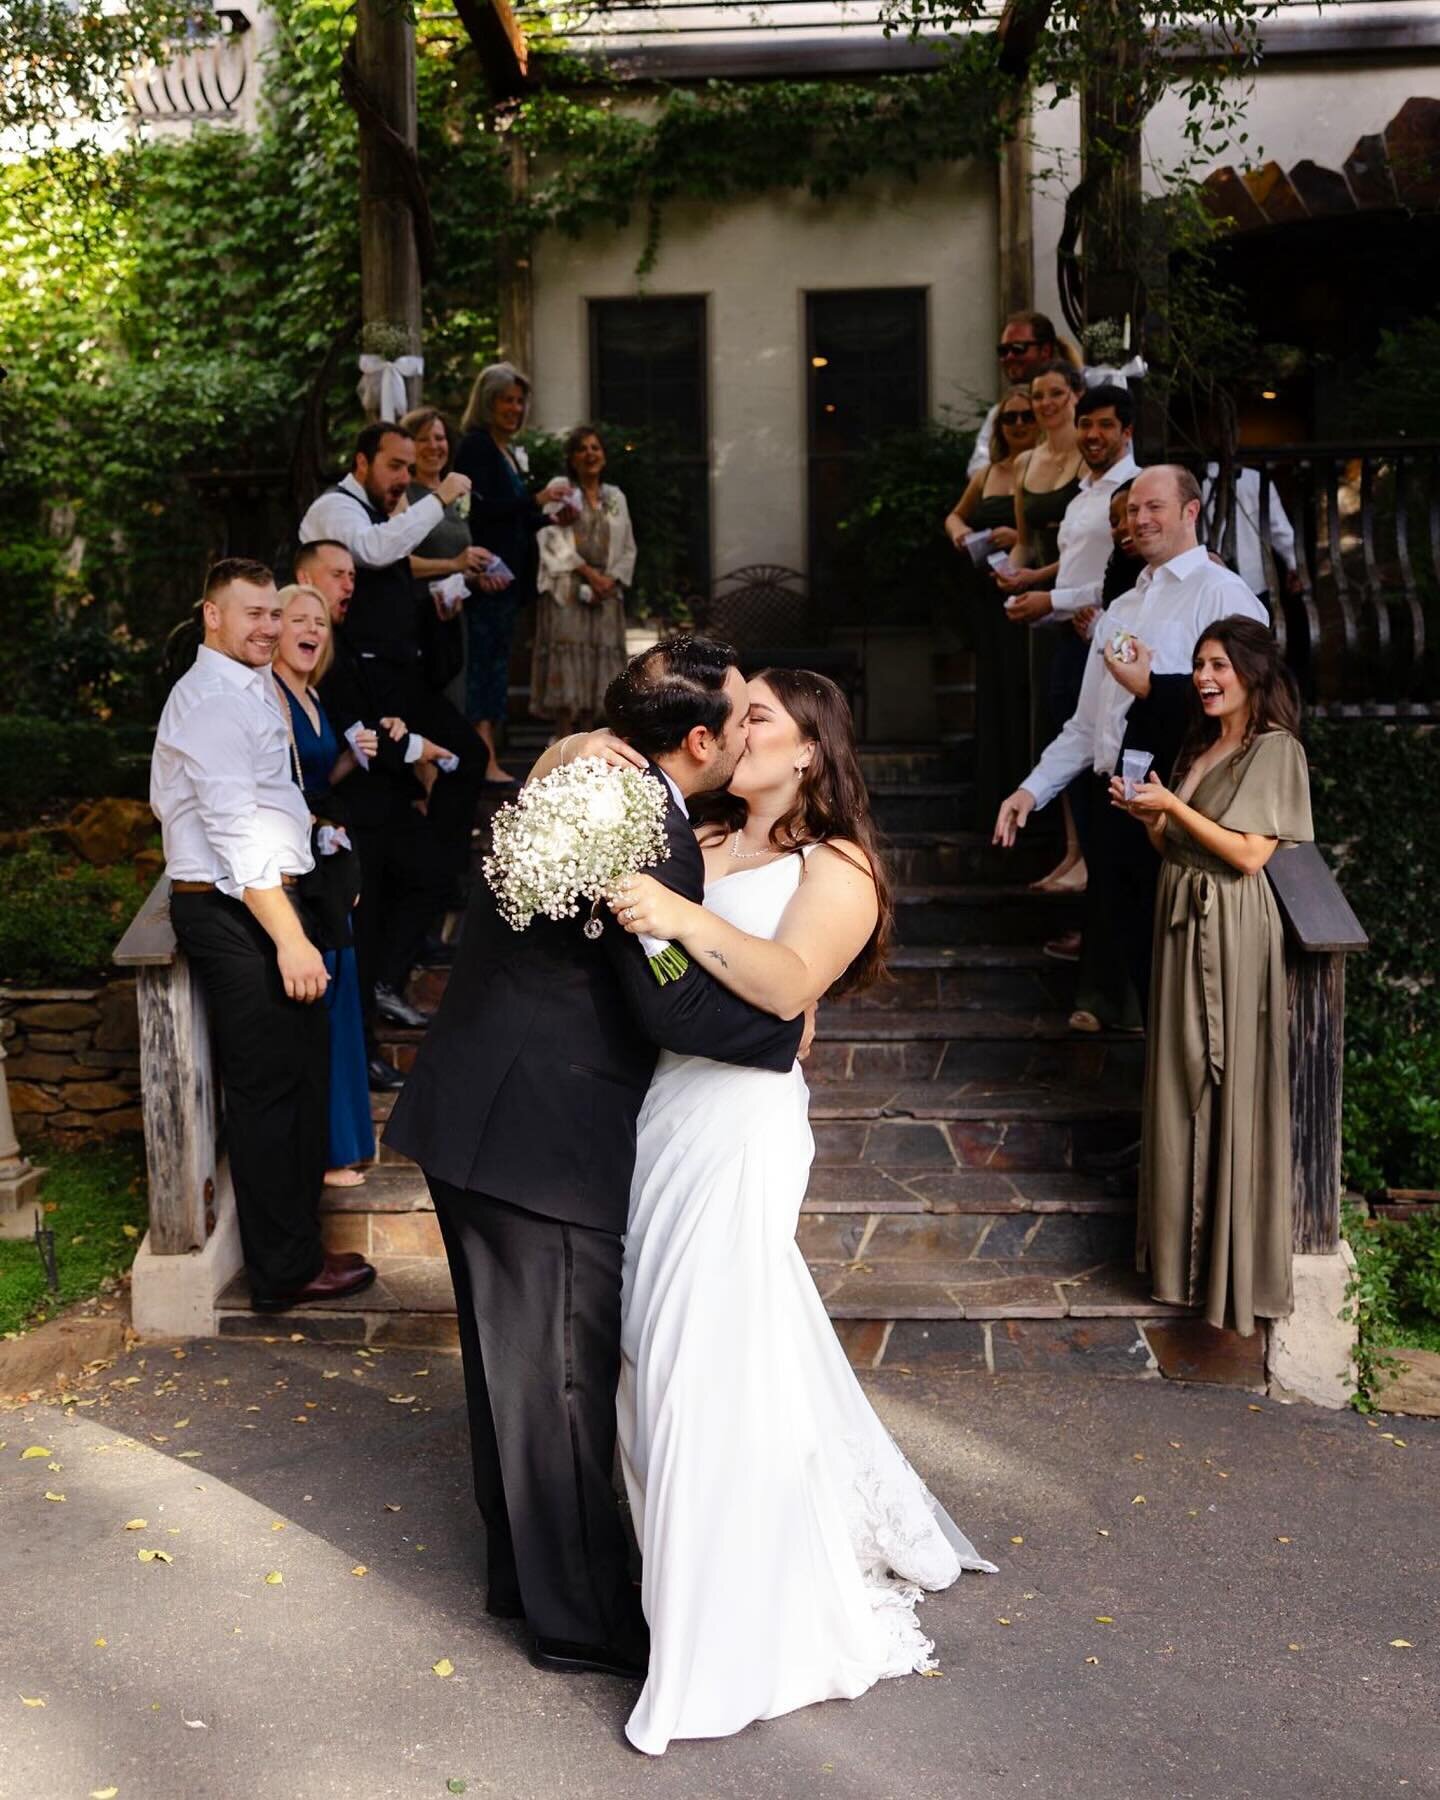
[[[184,1256],[214,1231],[221,1105],[205,995],[169,922],[169,877],[151,887],[112,961],[135,970],[149,1249]]]

